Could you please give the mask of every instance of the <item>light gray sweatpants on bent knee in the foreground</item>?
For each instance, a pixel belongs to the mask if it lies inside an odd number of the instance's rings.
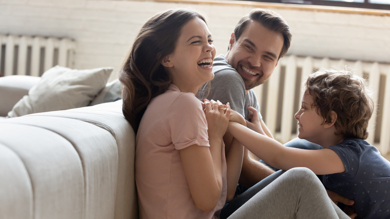
[[[349,218],[328,197],[318,177],[308,168],[287,170],[265,186],[228,219],[236,218]]]

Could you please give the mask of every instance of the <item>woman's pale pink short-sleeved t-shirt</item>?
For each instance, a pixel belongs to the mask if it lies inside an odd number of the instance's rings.
[[[205,213],[195,206],[181,165],[179,149],[193,144],[209,146],[201,102],[171,84],[150,101],[136,135],[135,181],[141,219],[218,218],[226,200],[224,147],[222,193],[214,210]]]

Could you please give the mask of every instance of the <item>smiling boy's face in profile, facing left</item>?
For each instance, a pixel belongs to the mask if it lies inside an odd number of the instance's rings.
[[[313,96],[306,90],[302,96],[300,109],[294,117],[298,121],[298,137],[313,143],[321,144],[321,135],[324,133],[323,118],[317,114],[317,106],[311,107]]]

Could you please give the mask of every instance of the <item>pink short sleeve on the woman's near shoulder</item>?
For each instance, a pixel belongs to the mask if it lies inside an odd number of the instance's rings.
[[[169,106],[169,127],[175,149],[209,146],[201,102],[192,93],[181,93]]]

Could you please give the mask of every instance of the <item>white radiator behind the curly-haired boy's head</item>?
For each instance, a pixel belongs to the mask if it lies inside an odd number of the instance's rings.
[[[382,155],[390,152],[390,64],[343,59],[284,56],[272,75],[254,90],[261,106],[261,114],[267,127],[281,143],[297,136],[294,113],[299,109],[301,85],[307,75],[319,68],[349,69],[368,78],[374,92],[375,110],[369,121],[366,139],[375,145]]]

